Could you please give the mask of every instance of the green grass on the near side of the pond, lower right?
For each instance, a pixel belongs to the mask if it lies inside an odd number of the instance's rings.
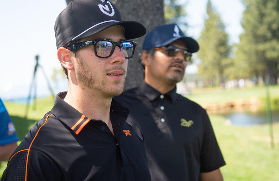
[[[273,124],[274,149],[269,125],[226,125],[226,118],[210,115],[214,131],[226,161],[221,167],[224,180],[276,181],[279,178],[279,123]]]

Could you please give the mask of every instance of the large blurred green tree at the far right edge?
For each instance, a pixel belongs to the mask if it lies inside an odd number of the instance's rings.
[[[279,64],[279,0],[243,0],[240,42],[236,51],[235,77],[264,77],[276,83]]]

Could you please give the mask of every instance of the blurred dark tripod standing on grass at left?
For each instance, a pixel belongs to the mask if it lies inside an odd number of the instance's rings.
[[[28,95],[28,98],[27,98],[27,103],[26,103],[26,110],[25,110],[25,118],[27,118],[27,115],[28,115],[28,110],[29,110],[29,106],[30,106],[30,99],[31,99],[31,93],[32,93],[32,89],[34,89],[34,95],[33,95],[33,101],[34,101],[34,104],[33,104],[33,110],[35,111],[36,110],[36,99],[37,99],[37,78],[36,78],[36,73],[37,73],[37,70],[38,68],[40,67],[43,74],[44,74],[44,77],[47,81],[47,85],[49,87],[49,91],[51,92],[51,95],[52,95],[52,98],[53,98],[53,102],[55,100],[55,96],[54,96],[54,93],[53,93],[53,90],[49,84],[49,80],[47,79],[47,75],[46,73],[44,72],[44,69],[43,67],[39,64],[39,55],[36,55],[35,56],[35,59],[36,59],[36,65],[35,65],[35,68],[34,68],[34,73],[33,73],[33,78],[32,78],[32,82],[31,82],[31,85],[30,85],[30,88],[29,88],[29,95]]]

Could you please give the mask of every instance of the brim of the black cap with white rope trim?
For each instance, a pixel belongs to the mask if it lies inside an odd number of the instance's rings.
[[[90,30],[87,30],[83,34],[76,36],[73,40],[83,39],[85,37],[89,37],[99,33],[111,26],[120,25],[125,30],[125,38],[126,39],[134,39],[145,35],[146,28],[137,21],[116,21],[116,22],[108,22],[100,24]]]

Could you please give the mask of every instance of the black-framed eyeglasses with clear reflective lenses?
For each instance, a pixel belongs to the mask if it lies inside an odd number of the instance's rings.
[[[137,42],[132,40],[115,42],[109,39],[95,39],[70,44],[69,47],[71,48],[71,51],[74,51],[89,45],[94,46],[96,57],[108,58],[114,52],[115,47],[118,46],[124,57],[128,59],[133,57]]]

